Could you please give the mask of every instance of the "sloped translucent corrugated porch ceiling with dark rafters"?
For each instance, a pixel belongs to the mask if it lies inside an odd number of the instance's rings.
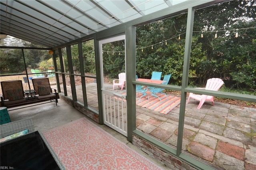
[[[186,0],[1,0],[0,32],[55,47]]]

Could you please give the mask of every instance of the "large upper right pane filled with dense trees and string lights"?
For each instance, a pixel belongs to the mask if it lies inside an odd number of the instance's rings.
[[[256,95],[255,17],[244,13],[252,4],[240,2],[195,11],[190,87],[216,77],[224,81],[220,91]]]

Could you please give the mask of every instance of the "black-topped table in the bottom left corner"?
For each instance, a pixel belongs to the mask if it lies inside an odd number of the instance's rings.
[[[1,167],[18,170],[64,170],[44,136],[31,132],[0,144]]]

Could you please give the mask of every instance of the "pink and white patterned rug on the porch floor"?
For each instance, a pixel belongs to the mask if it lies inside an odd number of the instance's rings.
[[[147,158],[86,118],[44,132],[67,170],[157,170]]]

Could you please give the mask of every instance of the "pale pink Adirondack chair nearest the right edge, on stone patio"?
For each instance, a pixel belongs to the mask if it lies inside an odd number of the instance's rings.
[[[222,79],[212,78],[212,79],[208,79],[207,80],[206,88],[198,88],[198,89],[206,89],[206,90],[218,91],[223,84],[224,84],[224,82],[222,81]],[[212,105],[214,106],[213,96],[196,95],[194,93],[189,93],[187,103],[189,102],[190,98],[196,99],[196,100],[200,101],[197,109],[200,109],[205,101],[212,101]]]

